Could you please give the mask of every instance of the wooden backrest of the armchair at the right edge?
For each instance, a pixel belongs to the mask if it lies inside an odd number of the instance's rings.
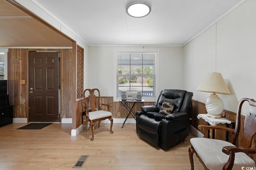
[[[244,119],[244,128],[243,131],[240,132],[240,126],[241,126],[241,110],[242,105],[244,102],[249,102],[249,112],[246,114],[246,117]],[[233,145],[237,144],[238,135],[241,133],[241,138],[239,142],[239,147],[244,148],[254,148],[256,145],[256,101],[253,99],[243,98],[240,100],[238,104],[238,109],[236,113],[236,126],[234,133],[231,137],[231,143]]]

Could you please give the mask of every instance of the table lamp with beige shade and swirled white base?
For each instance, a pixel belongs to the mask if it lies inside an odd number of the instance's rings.
[[[208,73],[196,90],[212,93],[205,101],[207,115],[212,118],[221,117],[224,105],[217,94],[230,94],[222,75],[218,72]]]

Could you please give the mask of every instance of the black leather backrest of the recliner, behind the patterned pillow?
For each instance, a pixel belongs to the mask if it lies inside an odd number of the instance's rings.
[[[174,104],[174,109],[172,113],[179,112],[182,108],[186,93],[186,90],[165,89],[162,91],[162,94],[156,106],[160,109],[163,102],[172,103]]]

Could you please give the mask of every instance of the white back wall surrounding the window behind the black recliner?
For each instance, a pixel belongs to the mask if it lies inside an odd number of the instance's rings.
[[[184,89],[183,83],[183,48],[182,47],[144,47],[144,51],[158,49],[159,69],[157,69],[158,89]],[[142,50],[142,47],[90,47],[90,71],[88,88],[100,89],[101,96],[114,96],[115,51]],[[158,91],[158,89],[156,91]],[[157,94],[158,95],[158,92]],[[155,98],[152,99],[152,102]]]

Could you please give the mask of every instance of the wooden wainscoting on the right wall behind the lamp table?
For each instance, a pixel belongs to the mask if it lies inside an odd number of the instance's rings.
[[[207,111],[205,109],[205,104],[204,103],[198,102],[196,100],[192,100],[192,111],[190,113],[190,118],[192,120],[190,121],[190,125],[192,125],[196,129],[198,129],[198,125],[208,125],[208,123],[206,121],[204,121],[203,119],[198,119],[197,118],[198,114],[206,114],[206,113],[207,113]],[[234,122],[236,121],[236,113],[234,113],[232,111],[223,110],[222,116],[226,117],[227,119],[230,119]],[[240,129],[240,135],[238,136],[238,142],[240,141],[241,133],[243,133],[244,118],[245,118],[245,116],[241,115],[241,129]],[[225,124],[224,125],[217,125],[217,126],[226,127]],[[232,125],[229,125],[229,127],[231,128]],[[199,131],[204,134],[203,129],[200,129]],[[231,134],[229,133],[228,134],[228,139],[230,139],[230,136],[231,136]],[[210,135],[210,137],[211,137],[211,135]],[[226,131],[215,130],[214,131],[214,137],[215,137],[215,139],[226,140]]]

